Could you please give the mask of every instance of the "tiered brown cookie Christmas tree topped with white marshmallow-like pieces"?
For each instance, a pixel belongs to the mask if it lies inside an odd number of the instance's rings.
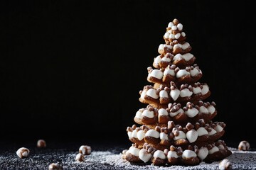
[[[128,162],[155,165],[196,165],[228,157],[220,137],[225,123],[213,122],[217,114],[208,84],[196,64],[191,46],[186,42],[183,25],[170,22],[159,45],[153,67],[148,67],[149,85],[139,91],[145,103],[134,116],[137,125],[127,128],[132,146],[122,157]]]

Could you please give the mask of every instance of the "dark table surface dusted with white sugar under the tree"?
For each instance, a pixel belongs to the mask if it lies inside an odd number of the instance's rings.
[[[38,139],[37,139],[38,140]],[[54,139],[46,140],[46,148],[37,148],[37,140],[2,140],[0,142],[0,169],[48,169],[50,163],[60,163],[63,169],[157,169],[150,164],[132,165],[124,162],[121,153],[129,149],[132,142],[129,140],[78,140],[78,139]],[[256,169],[256,151],[239,152],[235,150],[239,142],[230,142],[228,147],[232,148],[234,154],[230,157],[235,168]],[[90,145],[92,154],[85,156],[85,162],[76,162],[75,156],[81,145]],[[30,149],[27,158],[20,159],[16,150],[20,147]],[[237,162],[237,160],[239,161]],[[171,166],[161,169],[218,169],[218,162],[212,164],[200,164],[198,166]]]

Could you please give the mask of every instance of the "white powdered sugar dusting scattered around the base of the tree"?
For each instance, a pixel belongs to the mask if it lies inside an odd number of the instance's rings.
[[[219,169],[220,162],[206,164],[201,162],[196,166],[154,166],[153,164],[132,164],[122,159],[122,149],[108,148],[92,150],[90,155],[85,155],[85,162],[78,162],[75,156],[78,151],[67,149],[31,149],[28,158],[20,159],[15,152],[3,152],[0,155],[0,169],[48,169],[50,163],[59,162],[63,169]],[[229,147],[231,154],[228,161],[232,164],[232,169],[255,169],[256,151],[239,151]]]

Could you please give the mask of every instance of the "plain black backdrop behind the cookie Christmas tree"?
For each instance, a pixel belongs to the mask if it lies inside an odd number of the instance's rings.
[[[255,9],[246,1],[9,1],[1,7],[1,139],[129,143],[139,91],[174,18],[223,139],[255,141]],[[253,145],[253,142],[252,142]]]

